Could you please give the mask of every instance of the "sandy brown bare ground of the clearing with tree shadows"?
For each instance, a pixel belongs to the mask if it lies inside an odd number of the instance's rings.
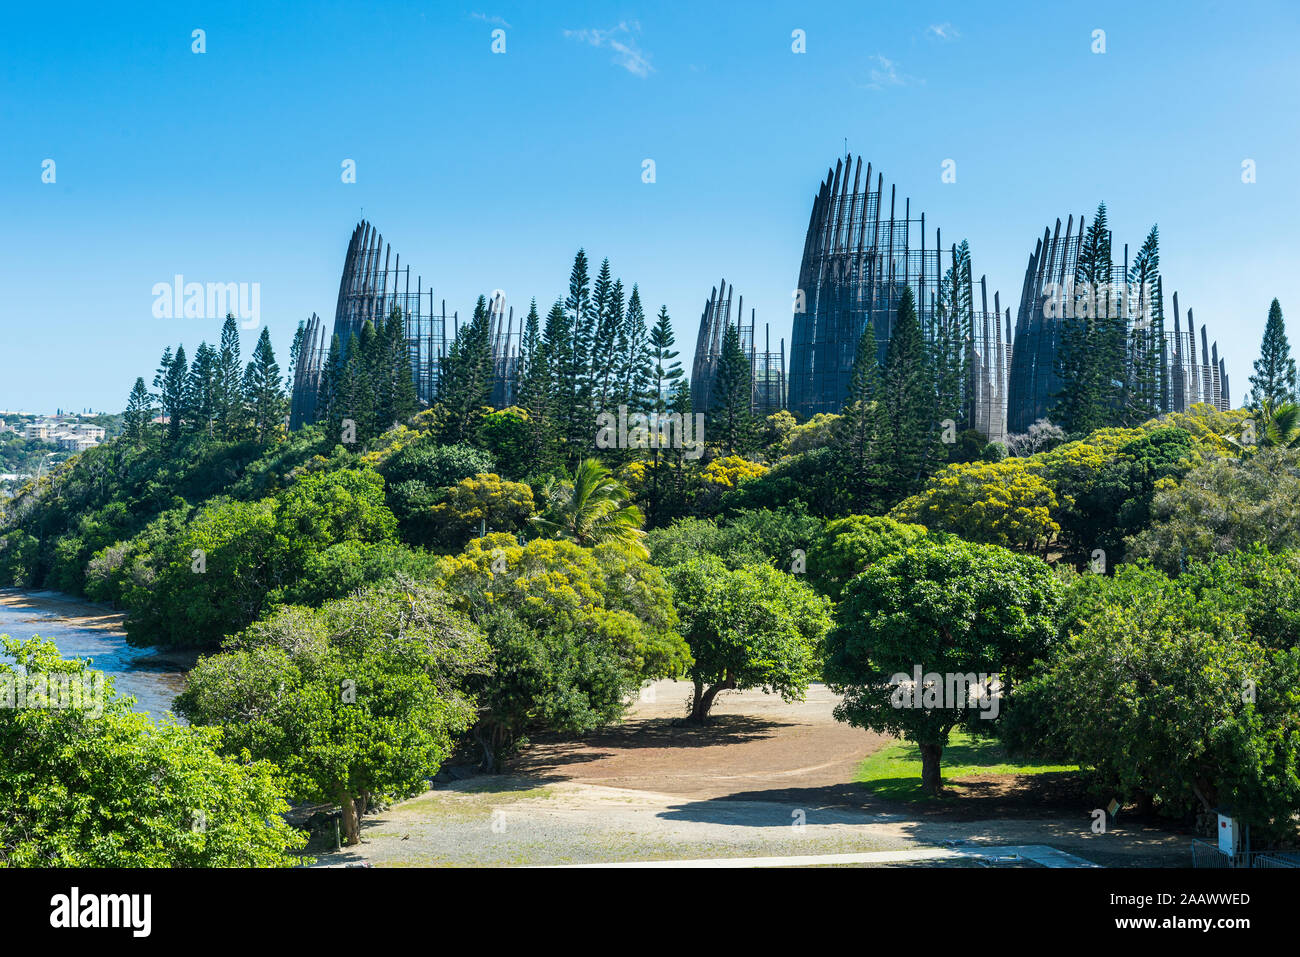
[[[1074,775],[948,781],[957,800],[885,801],[853,783],[892,739],[803,702],[719,698],[703,728],[680,720],[689,685],[660,681],[618,728],[538,740],[499,776],[433,791],[363,822],[363,843],[321,865],[552,865],[829,854],[922,846],[1050,845],[1106,866],[1190,862],[1188,836],[1123,820],[1092,833]]]

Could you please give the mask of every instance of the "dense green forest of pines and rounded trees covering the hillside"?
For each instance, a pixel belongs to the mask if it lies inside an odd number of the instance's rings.
[[[300,841],[266,820],[283,798],[337,802],[355,841],[376,801],[455,749],[498,770],[529,735],[615,723],[670,676],[693,683],[694,722],[724,690],[798,698],[826,680],[841,720],[918,742],[936,791],[962,729],[1176,819],[1231,804],[1261,837],[1294,837],[1300,416],[1280,308],[1248,410],[1139,421],[1098,399],[1084,430],[1041,423],[1005,445],[945,430],[959,356],[922,334],[910,295],[896,319],[885,361],[859,348],[842,412],[810,421],[754,413],[733,337],[716,404],[694,410],[667,309],[649,320],[637,286],[608,261],[590,280],[582,252],[567,298],[529,311],[504,408],[485,299],[433,407],[394,316],[332,343],[320,420],[291,433],[265,330],[247,363],[233,319],[192,360],[169,348],[118,439],[5,503],[0,584],[110,602],[131,642],[200,649],[177,701],[194,727],[51,713],[25,739],[0,716],[17,774],[49,789],[0,789],[0,861],[289,862]],[[619,406],[702,412],[702,446],[598,447]],[[10,654],[74,667],[30,642]],[[918,664],[998,675],[1000,720],[892,705],[892,676]],[[203,806],[231,833],[131,857],[148,832],[32,830],[73,788],[49,758],[60,733],[150,750],[166,780],[208,754],[226,783]],[[174,817],[192,797],[156,800]]]

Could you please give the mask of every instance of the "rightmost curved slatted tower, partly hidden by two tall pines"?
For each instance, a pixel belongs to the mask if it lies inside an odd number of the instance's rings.
[[[1030,255],[1015,320],[1015,351],[1010,361],[1006,412],[1009,432],[1026,432],[1039,419],[1049,417],[1063,387],[1057,369],[1062,334],[1066,322],[1080,320],[1062,316],[1060,309],[1052,307],[1053,299],[1061,295],[1061,290],[1069,290],[1079,274],[1079,254],[1086,231],[1087,221],[1083,216],[1079,216],[1078,221],[1074,216],[1069,216],[1063,234],[1061,220],[1057,220],[1054,229],[1052,226],[1044,229],[1043,237],[1035,243]],[[1112,265],[1112,287],[1127,289],[1127,280],[1128,246],[1126,244],[1123,261]],[[1115,313],[1123,319],[1126,334],[1132,334],[1134,322],[1150,324],[1148,342],[1141,343],[1140,335],[1134,338],[1143,345],[1143,348],[1157,350],[1160,354],[1157,411],[1182,412],[1197,402],[1209,403],[1221,411],[1228,410],[1231,393],[1227,372],[1218,355],[1218,343],[1209,345],[1208,332],[1202,325],[1201,358],[1197,360],[1192,311],[1187,311],[1184,332],[1176,293],[1173,303],[1174,329],[1170,332],[1164,324],[1164,283],[1158,277],[1150,299],[1131,298],[1127,294],[1115,298]]]

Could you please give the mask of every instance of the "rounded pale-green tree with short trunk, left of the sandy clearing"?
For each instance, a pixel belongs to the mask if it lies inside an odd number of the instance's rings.
[[[202,658],[177,710],[228,753],[276,763],[298,798],[335,801],[347,844],[374,794],[433,778],[473,720],[464,693],[488,646],[436,589],[372,586],[318,610],[282,606]]]

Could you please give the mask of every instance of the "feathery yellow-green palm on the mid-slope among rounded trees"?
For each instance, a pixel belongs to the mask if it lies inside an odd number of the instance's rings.
[[[619,542],[649,557],[641,544],[642,521],[632,492],[598,459],[580,462],[573,481],[564,482],[546,512],[533,519],[537,529],[551,538],[568,538],[584,547]]]

